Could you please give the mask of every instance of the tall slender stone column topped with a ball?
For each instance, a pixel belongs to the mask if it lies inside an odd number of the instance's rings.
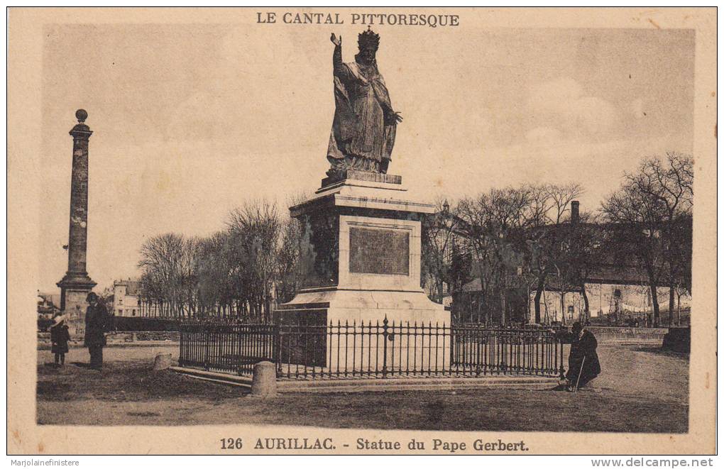
[[[85,270],[88,240],[88,139],[93,132],[84,109],[75,112],[78,123],[70,131],[73,138],[73,166],[70,182],[70,231],[68,235],[68,271],[57,283],[60,309],[67,316],[71,334],[82,334],[85,327],[85,297],[96,286]]]

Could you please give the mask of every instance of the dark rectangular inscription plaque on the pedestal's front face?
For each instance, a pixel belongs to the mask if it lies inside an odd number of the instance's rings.
[[[350,272],[410,274],[410,234],[396,229],[350,227]]]

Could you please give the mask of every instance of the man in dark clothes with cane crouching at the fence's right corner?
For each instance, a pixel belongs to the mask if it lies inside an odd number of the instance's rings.
[[[558,337],[561,342],[571,344],[568,373],[565,373],[565,390],[576,392],[601,373],[601,364],[596,353],[598,342],[579,322],[573,323],[571,332],[563,332],[558,334]]]

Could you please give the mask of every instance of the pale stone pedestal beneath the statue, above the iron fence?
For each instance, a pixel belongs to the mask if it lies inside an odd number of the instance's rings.
[[[450,326],[450,312],[420,286],[421,217],[434,206],[406,197],[399,176],[349,171],[327,178],[290,211],[303,224],[306,282],[277,309],[282,324],[382,327],[387,318],[389,326]],[[327,342],[339,346],[333,337]],[[399,347],[412,357],[419,352]],[[379,350],[368,345],[365,353]]]

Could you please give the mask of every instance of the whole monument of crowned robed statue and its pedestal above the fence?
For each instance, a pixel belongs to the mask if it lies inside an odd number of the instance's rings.
[[[434,206],[411,200],[402,177],[387,174],[402,117],[377,69],[379,35],[360,34],[359,54],[348,64],[342,63],[341,38],[332,35],[332,43],[331,167],[316,194],[290,208],[303,225],[305,284],[279,305],[277,318],[301,326],[382,324],[385,318],[397,325],[450,326],[450,312],[421,288],[421,218]]]

